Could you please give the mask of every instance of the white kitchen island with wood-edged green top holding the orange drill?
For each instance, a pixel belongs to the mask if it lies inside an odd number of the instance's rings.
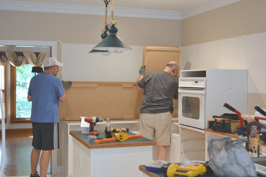
[[[152,146],[156,145],[156,141],[145,137],[96,144],[81,131],[69,134],[72,136],[72,177],[142,176],[139,164],[152,162]],[[104,132],[99,134],[100,138],[106,136]]]

